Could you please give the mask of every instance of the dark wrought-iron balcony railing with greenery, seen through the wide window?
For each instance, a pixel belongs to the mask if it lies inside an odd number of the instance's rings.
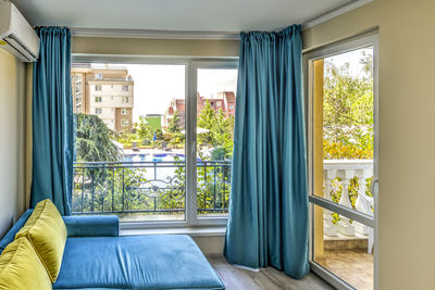
[[[185,218],[184,161],[83,162],[74,164],[73,214],[116,214],[123,222]],[[229,161],[197,164],[199,216],[228,211]]]

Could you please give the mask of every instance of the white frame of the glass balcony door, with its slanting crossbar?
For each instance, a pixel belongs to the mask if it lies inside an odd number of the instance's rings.
[[[314,196],[314,98],[313,98],[313,62],[319,59],[341,54],[357,49],[373,47],[373,134],[374,134],[374,154],[373,154],[373,180],[378,180],[378,30],[374,28],[364,34],[346,38],[333,43],[321,46],[302,52],[303,65],[303,89],[306,103],[306,125],[307,125],[307,161],[308,161],[308,188],[309,188],[309,218],[310,218],[310,267],[311,270],[337,289],[353,289],[349,283],[326,270],[320,264],[313,261],[314,247],[314,204],[324,209],[346,214],[355,220],[374,227],[374,289],[378,289],[378,194],[374,190],[374,216],[350,210],[346,206],[327,202],[322,198]]]

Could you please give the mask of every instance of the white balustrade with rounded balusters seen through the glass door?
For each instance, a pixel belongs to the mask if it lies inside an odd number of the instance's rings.
[[[369,205],[373,199],[365,194],[366,178],[373,176],[373,160],[325,160],[323,162],[324,169],[324,198],[332,200],[332,192],[336,190],[333,187],[333,181],[339,177],[341,184],[341,197],[339,204],[352,207],[349,197],[349,186],[355,177],[358,177],[358,197],[356,200],[356,209],[362,213],[372,215],[371,206]],[[364,194],[363,197],[361,197]],[[350,223],[349,218],[340,216],[340,220],[333,223],[332,212],[324,210],[324,234],[330,237],[337,236],[337,231],[345,236],[355,236],[356,232],[368,236],[371,229],[357,222]]]

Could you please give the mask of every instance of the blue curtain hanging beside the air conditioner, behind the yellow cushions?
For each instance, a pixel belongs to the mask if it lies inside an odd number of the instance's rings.
[[[51,199],[62,215],[69,215],[74,155],[71,33],[61,27],[37,27],[36,33],[40,53],[33,75],[30,206]]]

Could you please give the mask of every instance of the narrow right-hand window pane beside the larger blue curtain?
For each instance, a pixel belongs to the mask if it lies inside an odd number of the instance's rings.
[[[233,157],[234,113],[222,110],[222,101],[236,98],[237,68],[198,65],[197,75],[197,215],[227,215]],[[227,92],[231,90],[231,93]],[[215,128],[219,128],[217,130]]]

